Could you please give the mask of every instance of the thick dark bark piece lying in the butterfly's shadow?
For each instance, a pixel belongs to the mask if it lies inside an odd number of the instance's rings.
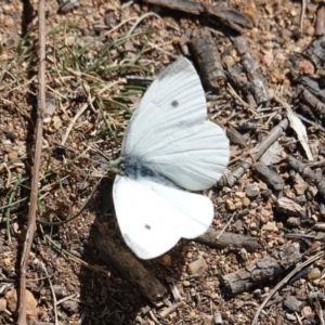
[[[93,240],[101,259],[116,269],[153,304],[157,304],[165,298],[166,287],[146,271],[131,252],[113,243],[106,234],[105,226],[99,221],[95,221]]]

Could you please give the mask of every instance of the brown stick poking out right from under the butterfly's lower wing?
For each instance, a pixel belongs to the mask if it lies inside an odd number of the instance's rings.
[[[260,244],[255,237],[227,232],[223,232],[219,237],[220,233],[220,231],[209,229],[204,235],[195,238],[195,242],[217,248],[230,248],[236,250],[245,248],[249,252],[261,248]]]

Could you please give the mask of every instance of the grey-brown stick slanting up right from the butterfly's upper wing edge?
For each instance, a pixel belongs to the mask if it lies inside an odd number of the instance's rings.
[[[251,150],[251,156],[246,158],[239,167],[230,171],[225,171],[222,178],[217,183],[219,187],[222,186],[234,186],[234,184],[243,177],[246,170],[256,162],[265,151],[281,136],[284,130],[288,127],[288,120],[283,119],[276,127],[274,127],[268,136],[265,136],[262,142],[257,144],[255,148]]]

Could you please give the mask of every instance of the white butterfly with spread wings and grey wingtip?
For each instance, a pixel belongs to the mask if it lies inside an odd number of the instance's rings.
[[[180,238],[194,238],[213,220],[213,205],[190,191],[211,187],[229,161],[224,131],[206,120],[205,93],[184,57],[160,73],[126,130],[113,197],[127,245],[142,259]]]

